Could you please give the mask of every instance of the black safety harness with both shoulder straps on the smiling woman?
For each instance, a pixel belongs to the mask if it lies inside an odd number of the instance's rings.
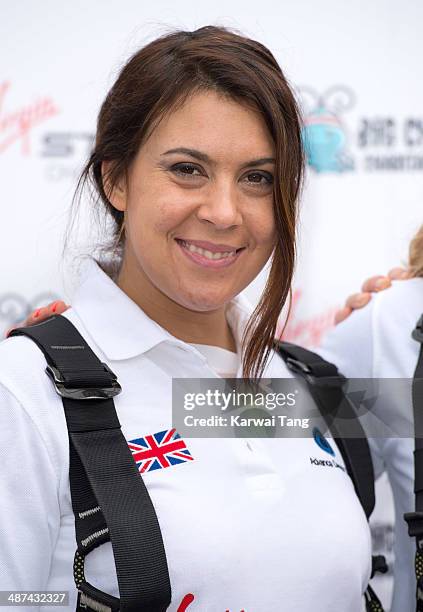
[[[9,334],[18,335],[27,336],[41,349],[47,361],[46,372],[62,397],[77,543],[76,612],[166,610],[171,602],[171,585],[163,539],[116,414],[113,397],[121,392],[117,377],[66,317],[55,315]],[[287,366],[307,381],[369,518],[375,504],[373,465],[364,431],[342,390],[345,377],[333,364],[294,344],[277,342],[275,349]],[[343,436],[344,422],[348,423],[347,437]],[[355,428],[354,436],[351,427]],[[85,579],[86,555],[105,542],[112,545],[120,598]],[[376,571],[387,571],[382,556],[372,558],[372,577]],[[367,612],[383,612],[370,585],[365,598]]]

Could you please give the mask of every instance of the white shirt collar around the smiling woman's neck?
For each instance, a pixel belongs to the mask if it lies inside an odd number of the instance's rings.
[[[94,259],[87,259],[72,308],[108,359],[129,359],[161,342],[182,346],[205,357],[195,347],[170,334],[126,295]],[[227,305],[226,316],[240,354],[242,332],[252,312],[247,298],[238,295]]]

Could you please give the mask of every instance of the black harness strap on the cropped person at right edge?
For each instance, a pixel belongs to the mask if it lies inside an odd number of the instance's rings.
[[[414,415],[414,494],[415,511],[404,514],[408,533],[416,538],[416,610],[423,611],[423,315],[413,330],[412,337],[420,342],[420,352],[413,377],[412,398]]]

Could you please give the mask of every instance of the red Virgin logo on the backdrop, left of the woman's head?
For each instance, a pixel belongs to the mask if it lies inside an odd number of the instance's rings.
[[[14,142],[20,141],[22,154],[28,155],[31,130],[57,115],[59,111],[51,98],[39,98],[26,106],[6,112],[4,103],[9,87],[9,81],[0,83],[0,153]]]

